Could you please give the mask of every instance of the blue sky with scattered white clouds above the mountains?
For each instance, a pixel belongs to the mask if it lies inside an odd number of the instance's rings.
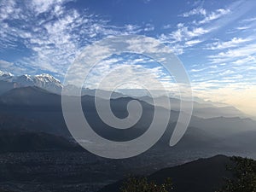
[[[87,45],[109,36],[144,35],[166,44],[183,62],[194,96],[256,115],[255,9],[253,0],[0,0],[0,70],[49,73],[63,81]],[[128,71],[137,77],[148,65],[165,84],[173,83],[143,55],[124,55],[102,61],[88,86],[114,67],[136,63]],[[117,71],[115,78],[128,71]]]

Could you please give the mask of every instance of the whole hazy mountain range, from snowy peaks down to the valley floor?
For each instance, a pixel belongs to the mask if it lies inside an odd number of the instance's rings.
[[[58,91],[63,88],[61,82],[48,74],[37,76],[14,76],[11,73],[0,73],[0,84],[11,88],[4,90],[0,87],[0,130],[36,131],[56,136],[67,137],[71,135],[67,129],[61,109],[61,95]],[[19,84],[19,86],[17,86]],[[68,85],[69,89],[77,89]],[[50,91],[51,90],[51,91]],[[160,148],[168,146],[168,142],[177,123],[180,100],[167,98],[172,108],[166,108],[166,98],[163,96],[154,98],[160,103],[154,106],[153,98],[149,96],[131,97],[121,93],[113,92],[110,105],[113,114],[119,118],[125,118],[127,104],[136,99],[143,107],[143,114],[137,124],[127,130],[115,129],[105,124],[97,113],[95,106],[96,90],[84,89],[81,97],[84,116],[94,131],[102,137],[114,141],[127,141],[139,137],[147,131],[151,119],[154,116],[154,108],[159,108],[160,117],[163,117],[167,110],[171,110],[171,118],[166,133],[161,138]],[[108,90],[105,91],[107,95]],[[104,95],[104,94],[103,94]],[[71,96],[72,97],[72,96]],[[98,98],[98,102],[108,102],[106,98]],[[103,113],[108,113],[103,109]],[[256,122],[241,113],[238,109],[230,106],[215,106],[212,102],[194,101],[194,111],[191,117],[189,128],[176,148],[214,148],[252,151],[255,143],[253,137],[256,135]],[[160,122],[161,126],[161,122]],[[240,143],[240,144],[237,144]]]

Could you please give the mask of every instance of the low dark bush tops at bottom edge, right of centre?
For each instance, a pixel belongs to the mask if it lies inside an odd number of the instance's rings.
[[[165,183],[148,182],[146,177],[129,177],[121,187],[122,192],[169,192],[172,191],[172,180],[167,178]]]

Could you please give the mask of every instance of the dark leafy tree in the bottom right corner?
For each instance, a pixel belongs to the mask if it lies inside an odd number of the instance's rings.
[[[256,161],[232,157],[235,166],[230,167],[234,179],[227,179],[223,189],[218,192],[256,192]]]

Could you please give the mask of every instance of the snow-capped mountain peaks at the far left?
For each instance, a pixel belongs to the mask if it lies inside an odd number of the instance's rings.
[[[59,79],[55,79],[53,76],[45,73],[34,76],[27,74],[15,76],[12,73],[0,71],[0,81],[14,84],[14,88],[38,86],[44,90],[49,90],[54,93],[60,93],[63,87]]]

